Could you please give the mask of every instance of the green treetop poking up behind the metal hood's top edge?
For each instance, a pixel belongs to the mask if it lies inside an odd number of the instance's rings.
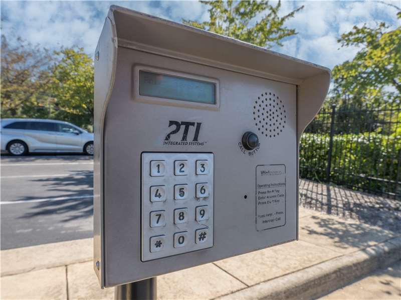
[[[280,17],[280,0],[275,6],[270,5],[269,1],[200,2],[210,6],[210,20],[202,23],[182,20],[183,23],[267,48],[275,44],[282,46],[281,40],[284,37],[297,34],[295,29],[284,26],[284,22],[304,7],[302,5]],[[265,15],[256,20],[261,13]]]

